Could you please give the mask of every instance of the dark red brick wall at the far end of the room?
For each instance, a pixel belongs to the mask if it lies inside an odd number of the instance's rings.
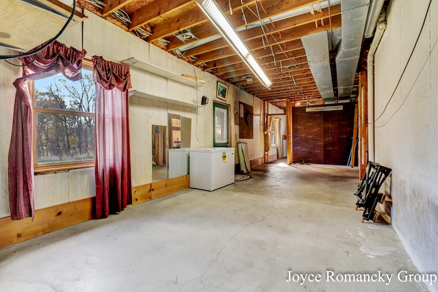
[[[293,162],[347,165],[350,155],[355,104],[342,111],[306,112],[292,109]]]

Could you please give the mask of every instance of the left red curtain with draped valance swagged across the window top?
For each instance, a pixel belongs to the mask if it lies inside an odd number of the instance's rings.
[[[42,44],[44,45],[44,44]],[[8,156],[9,202],[12,220],[34,219],[34,161],[32,155],[32,98],[27,80],[36,80],[59,72],[70,79],[82,78],[82,58],[86,51],[53,42],[36,56],[23,57],[23,77],[14,81],[16,88],[14,120]],[[32,62],[34,60],[34,62]]]

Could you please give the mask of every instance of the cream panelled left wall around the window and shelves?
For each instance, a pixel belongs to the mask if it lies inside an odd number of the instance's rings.
[[[192,119],[192,148],[213,146],[213,101],[216,99],[216,82],[218,79],[202,70],[183,62],[161,49],[140,40],[123,29],[86,12],[88,19],[64,32],[60,42],[76,49],[86,49],[88,56],[99,55],[119,63],[129,57],[137,57],[175,72],[178,75],[188,74],[205,78],[206,86],[194,88],[175,81],[167,81],[164,77],[153,75],[138,68],[131,68],[133,88],[146,94],[162,96],[178,101],[200,104],[203,95],[209,97],[206,107],[192,107],[153,101],[147,98],[131,96],[129,100],[129,129],[131,135],[131,176],[133,186],[151,183],[151,136],[152,125],[167,125],[168,113],[180,114]],[[82,47],[83,44],[83,47]],[[11,55],[13,52],[0,49],[0,54]],[[16,61],[17,62],[17,61]],[[10,215],[8,199],[8,151],[12,129],[12,112],[14,108],[15,88],[12,82],[21,76],[21,69],[0,62],[0,217]],[[254,105],[255,116],[253,140],[247,140],[251,159],[263,157],[263,133],[260,122],[263,103],[246,92],[229,84],[227,103],[230,105],[231,146],[235,146],[235,135],[238,137],[238,126],[234,124],[235,102],[243,101]],[[270,112],[279,111],[270,107]],[[55,174],[35,176],[36,209],[51,207],[57,204],[81,200],[94,196],[94,168],[70,170]]]

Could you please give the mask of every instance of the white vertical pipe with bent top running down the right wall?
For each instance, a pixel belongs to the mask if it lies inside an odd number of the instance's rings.
[[[383,18],[383,19],[382,19]],[[371,43],[367,56],[367,85],[368,85],[368,160],[375,161],[374,148],[374,54],[381,42],[383,32],[386,29],[385,14],[380,18],[376,27],[376,34]]]

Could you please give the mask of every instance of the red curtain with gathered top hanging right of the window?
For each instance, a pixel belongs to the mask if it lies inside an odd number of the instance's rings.
[[[129,66],[93,57],[96,81],[96,218],[131,204]]]

